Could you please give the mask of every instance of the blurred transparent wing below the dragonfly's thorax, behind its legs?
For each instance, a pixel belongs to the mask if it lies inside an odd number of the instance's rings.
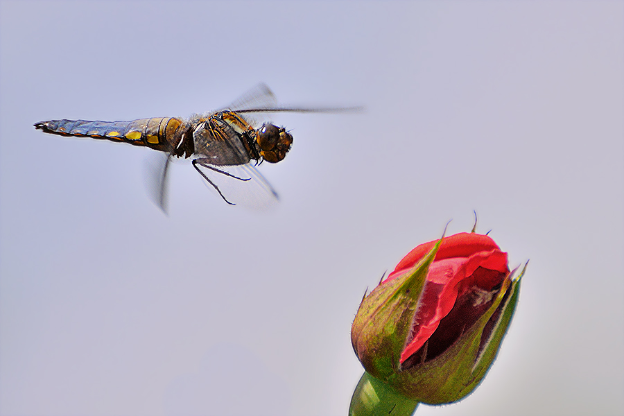
[[[275,207],[279,201],[277,192],[254,163],[215,166],[198,162],[193,166],[202,175],[208,189],[231,205],[264,210]]]

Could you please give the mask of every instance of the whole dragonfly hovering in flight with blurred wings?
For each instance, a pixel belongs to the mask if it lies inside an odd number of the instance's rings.
[[[35,123],[35,128],[62,136],[92,137],[146,146],[166,155],[157,175],[156,202],[166,211],[166,177],[173,157],[192,158],[193,167],[225,202],[228,199],[215,176],[230,182],[252,182],[266,198],[277,200],[277,192],[257,171],[265,161],[277,163],[291,150],[293,136],[283,127],[264,123],[254,128],[243,117],[261,112],[342,112],[357,108],[286,108],[275,105],[270,89],[260,84],[225,110],[194,115],[189,119],[157,117],[132,121],[51,120]],[[251,187],[245,187],[251,191]]]

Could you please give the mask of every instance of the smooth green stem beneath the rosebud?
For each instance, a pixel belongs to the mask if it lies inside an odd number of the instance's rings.
[[[349,416],[412,416],[418,402],[364,372],[351,398]]]

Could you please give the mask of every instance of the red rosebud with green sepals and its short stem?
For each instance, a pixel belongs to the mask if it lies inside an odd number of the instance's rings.
[[[399,414],[411,415],[419,402],[469,395],[494,362],[518,301],[526,266],[512,278],[507,263],[489,236],[474,232],[424,243],[402,259],[365,295],[353,322],[366,372],[349,414],[403,403],[408,410]]]

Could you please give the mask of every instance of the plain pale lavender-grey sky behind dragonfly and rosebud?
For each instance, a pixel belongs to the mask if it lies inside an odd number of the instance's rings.
[[[365,288],[473,210],[515,267],[480,388],[417,415],[624,413],[621,1],[1,1],[0,414],[347,415]],[[189,116],[265,82],[269,212],[48,119]]]

